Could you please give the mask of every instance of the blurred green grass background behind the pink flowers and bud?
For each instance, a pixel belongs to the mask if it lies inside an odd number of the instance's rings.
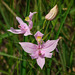
[[[74,3],[75,0],[0,0],[0,75],[75,75]],[[44,24],[45,15],[56,4],[58,15]],[[54,51],[51,59],[46,58],[42,70],[18,44],[19,41],[36,44],[34,36],[7,31],[10,27],[18,28],[16,16],[25,22],[30,11],[37,12],[33,16],[33,34],[40,30],[44,41],[62,37],[57,46],[59,53]]]

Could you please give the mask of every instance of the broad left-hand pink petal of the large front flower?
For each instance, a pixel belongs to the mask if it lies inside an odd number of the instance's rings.
[[[19,42],[25,52],[34,53],[37,50],[37,45],[29,42]]]

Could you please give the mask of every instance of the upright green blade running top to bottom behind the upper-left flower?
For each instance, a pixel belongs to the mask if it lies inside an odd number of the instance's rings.
[[[27,2],[27,6],[26,6],[26,14],[25,14],[25,16],[28,16],[29,15],[29,8],[30,8],[30,0],[27,0],[26,1]],[[28,37],[26,36],[24,36],[24,41],[26,42],[28,40]],[[26,54],[26,52],[23,50],[22,51],[22,59],[25,59],[26,58],[26,56],[27,56],[27,54]],[[20,69],[21,71],[20,71],[20,74],[21,75],[26,75],[27,73],[26,73],[26,61],[22,61],[21,62],[21,69]]]

